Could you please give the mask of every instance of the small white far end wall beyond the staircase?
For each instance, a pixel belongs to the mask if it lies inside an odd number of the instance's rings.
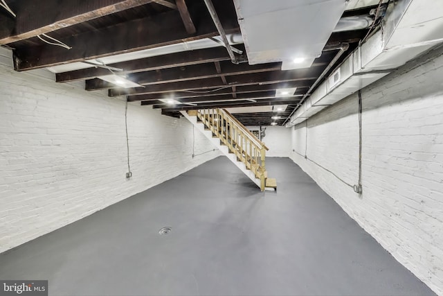
[[[260,130],[258,126],[248,126],[248,130]],[[289,157],[291,155],[291,130],[284,126],[266,126],[266,136],[262,139],[266,147],[266,157]]]

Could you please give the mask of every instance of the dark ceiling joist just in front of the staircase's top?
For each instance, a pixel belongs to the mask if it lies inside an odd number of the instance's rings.
[[[241,102],[226,102],[226,103],[203,103],[199,104],[197,106],[190,106],[190,105],[177,105],[170,108],[161,108],[164,112],[177,112],[177,111],[185,111],[185,110],[199,110],[199,109],[205,109],[205,108],[230,108],[230,107],[253,107],[253,106],[272,106],[272,105],[296,105],[300,102],[300,99],[294,100],[276,100],[275,98],[269,99],[269,100],[262,100],[260,102],[248,102],[248,101],[241,101]],[[156,106],[154,105],[154,108]]]

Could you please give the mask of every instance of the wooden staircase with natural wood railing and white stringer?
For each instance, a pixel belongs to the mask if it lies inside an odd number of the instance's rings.
[[[266,172],[266,150],[232,114],[224,109],[203,109],[181,112],[201,130],[215,146],[240,168],[257,186],[264,190],[277,190],[277,182]]]

